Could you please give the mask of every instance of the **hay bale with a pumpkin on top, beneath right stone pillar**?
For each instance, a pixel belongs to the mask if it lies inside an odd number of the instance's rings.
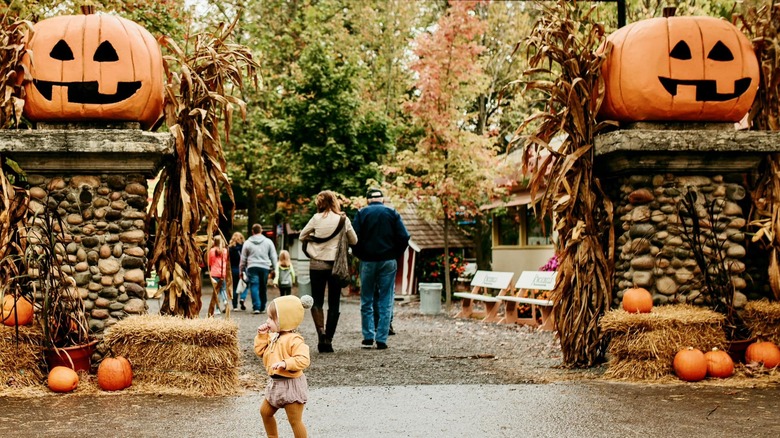
[[[601,318],[609,339],[606,376],[657,380],[673,373],[674,355],[683,348],[726,348],[725,317],[686,304],[659,306],[651,313],[613,310]]]

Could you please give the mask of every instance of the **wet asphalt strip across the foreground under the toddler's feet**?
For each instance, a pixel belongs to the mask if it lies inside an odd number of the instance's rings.
[[[14,437],[257,437],[262,394],[0,399]],[[778,388],[565,382],[310,391],[311,437],[780,436]],[[277,414],[281,437],[292,432]],[[12,434],[10,433],[11,431]]]

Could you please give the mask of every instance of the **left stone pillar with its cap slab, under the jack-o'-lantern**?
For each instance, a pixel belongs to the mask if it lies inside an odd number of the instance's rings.
[[[63,270],[76,280],[98,338],[147,310],[147,178],[172,151],[169,134],[125,125],[0,131],[0,154],[27,173],[31,209],[47,206],[63,219]]]

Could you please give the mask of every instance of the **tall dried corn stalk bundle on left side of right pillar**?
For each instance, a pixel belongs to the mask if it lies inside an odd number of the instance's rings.
[[[614,274],[612,203],[593,176],[593,141],[606,124],[596,122],[604,80],[600,76],[604,27],[580,13],[576,2],[545,7],[526,39],[531,69],[527,89],[546,96],[525,145],[523,173],[533,167],[531,197],[542,192],[537,214],[554,218],[560,265],[553,314],[567,366],[591,366],[603,358],[599,318],[609,309]],[[529,129],[531,130],[531,129]],[[565,135],[559,148],[553,137]],[[542,150],[549,152],[545,158]]]

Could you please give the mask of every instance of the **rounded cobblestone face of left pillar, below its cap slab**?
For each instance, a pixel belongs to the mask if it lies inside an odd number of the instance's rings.
[[[51,177],[32,174],[30,208],[48,206],[65,225],[63,271],[76,281],[90,331],[147,311],[148,188],[141,174]]]

